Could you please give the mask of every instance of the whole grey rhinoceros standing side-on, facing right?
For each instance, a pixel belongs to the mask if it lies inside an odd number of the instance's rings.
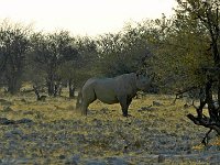
[[[87,116],[88,107],[96,99],[112,105],[120,103],[122,113],[128,117],[132,98],[139,90],[150,87],[152,78],[135,73],[123,74],[113,78],[90,78],[81,88],[81,114]]]

